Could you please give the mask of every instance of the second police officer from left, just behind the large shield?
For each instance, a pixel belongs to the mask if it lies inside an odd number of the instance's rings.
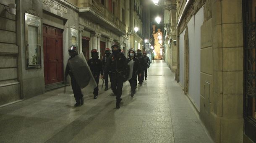
[[[103,75],[102,61],[99,59],[99,52],[96,49],[91,50],[91,59],[88,61],[91,73],[97,82],[97,87],[94,88],[94,99],[97,99],[99,93],[99,74]]]

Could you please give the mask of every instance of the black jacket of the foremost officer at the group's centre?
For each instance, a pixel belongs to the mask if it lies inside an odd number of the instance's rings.
[[[104,74],[120,73],[121,76],[127,76],[128,74],[128,64],[126,58],[123,54],[111,54],[107,58],[107,63],[105,65]]]

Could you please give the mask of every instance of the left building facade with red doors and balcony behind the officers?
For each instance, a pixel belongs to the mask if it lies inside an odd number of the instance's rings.
[[[140,0],[0,0],[0,7],[0,106],[63,87],[69,46],[87,60],[91,49],[102,59],[113,41],[125,56],[143,46]]]

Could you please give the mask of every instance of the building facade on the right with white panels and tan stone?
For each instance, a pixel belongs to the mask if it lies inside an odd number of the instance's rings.
[[[167,64],[178,63],[176,79],[209,134],[214,142],[255,143],[255,1],[168,3],[177,5],[171,22],[177,22],[178,57],[167,46]]]

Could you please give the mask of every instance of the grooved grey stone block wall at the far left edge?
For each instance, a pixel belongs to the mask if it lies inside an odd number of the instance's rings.
[[[0,1],[0,105],[21,99],[18,75],[18,53],[16,15],[6,11],[9,3]]]

